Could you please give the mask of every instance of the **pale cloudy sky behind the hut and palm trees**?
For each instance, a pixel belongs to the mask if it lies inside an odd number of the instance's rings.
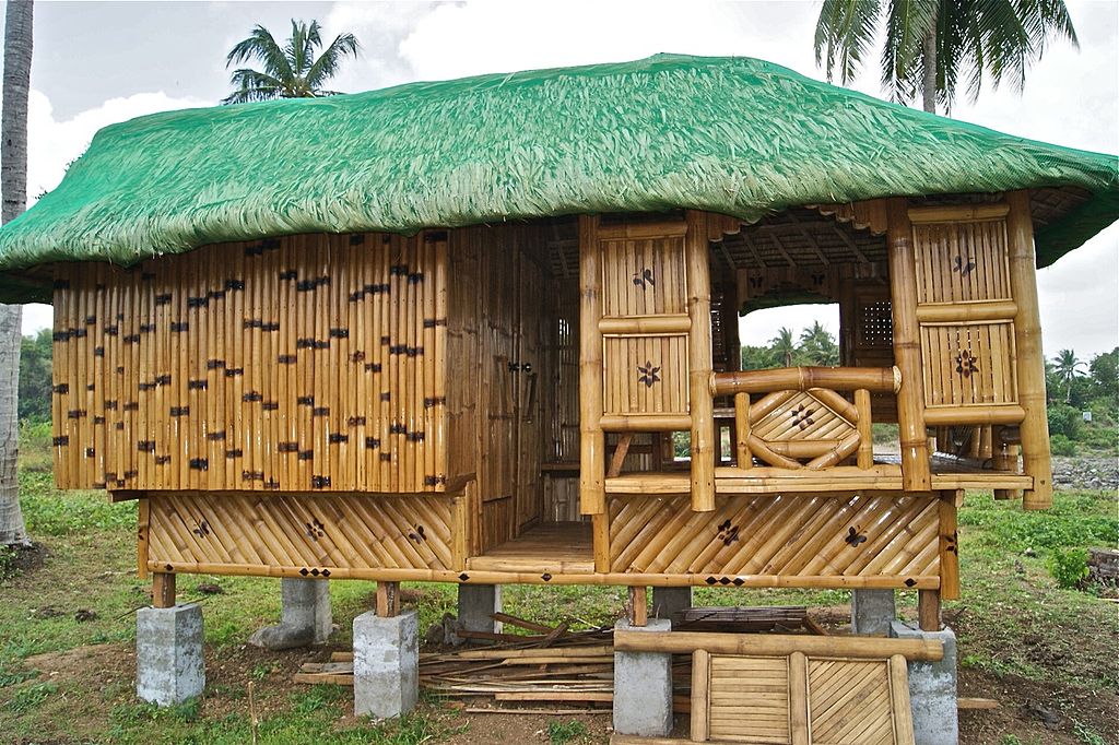
[[[1026,88],[985,88],[960,100],[959,120],[1057,144],[1119,153],[1119,3],[1070,0],[1080,49],[1051,45]],[[48,2],[35,6],[28,195],[62,180],[102,126],[157,111],[209,106],[228,93],[225,56],[261,23],[280,37],[292,18],[318,19],[323,36],[350,31],[363,46],[331,87],[357,92],[411,81],[638,59],[661,51],[769,59],[824,79],[812,55],[819,2]],[[2,19],[0,19],[2,22]],[[876,57],[852,86],[882,95]],[[1081,358],[1119,345],[1119,225],[1038,273],[1047,356]],[[781,326],[822,321],[835,307],[759,311],[741,321],[743,343]],[[49,326],[28,305],[25,332]]]

